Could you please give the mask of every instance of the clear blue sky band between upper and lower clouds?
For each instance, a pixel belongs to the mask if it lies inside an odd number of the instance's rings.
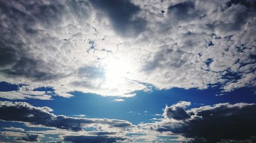
[[[0,91],[11,91],[15,89],[15,85],[6,84],[4,82],[0,84]],[[232,104],[256,102],[256,95],[253,89],[241,88],[233,92],[225,93],[222,96],[216,96],[216,94],[220,92],[218,89],[219,88],[185,90],[174,88],[161,91],[154,90],[150,93],[139,91],[136,92],[137,96],[135,97],[122,98],[124,99],[122,102],[114,101],[114,99],[119,99],[117,97],[102,97],[80,92],[72,93],[74,97],[71,98],[53,96],[53,100],[27,99],[15,101],[28,102],[34,106],[48,106],[54,110],[53,113],[55,115],[73,116],[83,114],[86,115],[86,118],[120,119],[127,120],[133,124],[139,124],[140,122],[151,123],[152,118],[160,118],[154,115],[156,113],[162,114],[162,108],[165,107],[165,104],[170,106],[178,101],[191,102],[189,108],[225,102]],[[51,89],[45,88],[44,90],[49,91]],[[129,113],[129,111],[132,112]],[[145,113],[144,111],[147,112]]]

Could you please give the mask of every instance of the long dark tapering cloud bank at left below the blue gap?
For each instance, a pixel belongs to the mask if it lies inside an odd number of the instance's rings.
[[[111,119],[87,119],[72,118],[63,115],[56,116],[49,112],[46,107],[35,107],[26,102],[0,102],[0,119],[4,121],[25,122],[31,125],[42,125],[46,127],[55,127],[59,129],[67,129],[80,131],[90,125],[106,126],[108,128],[130,128],[132,124],[123,120]],[[15,115],[12,114],[15,112]],[[97,125],[97,126],[96,126]]]

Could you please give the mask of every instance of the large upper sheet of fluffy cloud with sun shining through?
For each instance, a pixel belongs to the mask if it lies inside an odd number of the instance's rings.
[[[253,1],[3,1],[0,81],[135,96],[255,87]],[[50,99],[4,92],[7,99]],[[14,95],[15,98],[10,98]]]

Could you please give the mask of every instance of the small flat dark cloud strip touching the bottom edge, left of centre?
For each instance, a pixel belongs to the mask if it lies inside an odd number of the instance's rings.
[[[123,138],[117,137],[107,137],[107,136],[65,136],[66,141],[72,141],[74,143],[86,143],[86,142],[94,142],[94,143],[112,143],[117,140],[123,140]]]

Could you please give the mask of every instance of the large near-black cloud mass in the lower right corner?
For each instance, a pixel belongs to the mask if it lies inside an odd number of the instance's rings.
[[[157,130],[172,131],[196,140],[201,138],[206,142],[246,140],[256,135],[255,110],[256,104],[247,103],[220,103],[192,108],[185,111],[191,115],[190,118],[187,116],[180,123],[163,121]]]

